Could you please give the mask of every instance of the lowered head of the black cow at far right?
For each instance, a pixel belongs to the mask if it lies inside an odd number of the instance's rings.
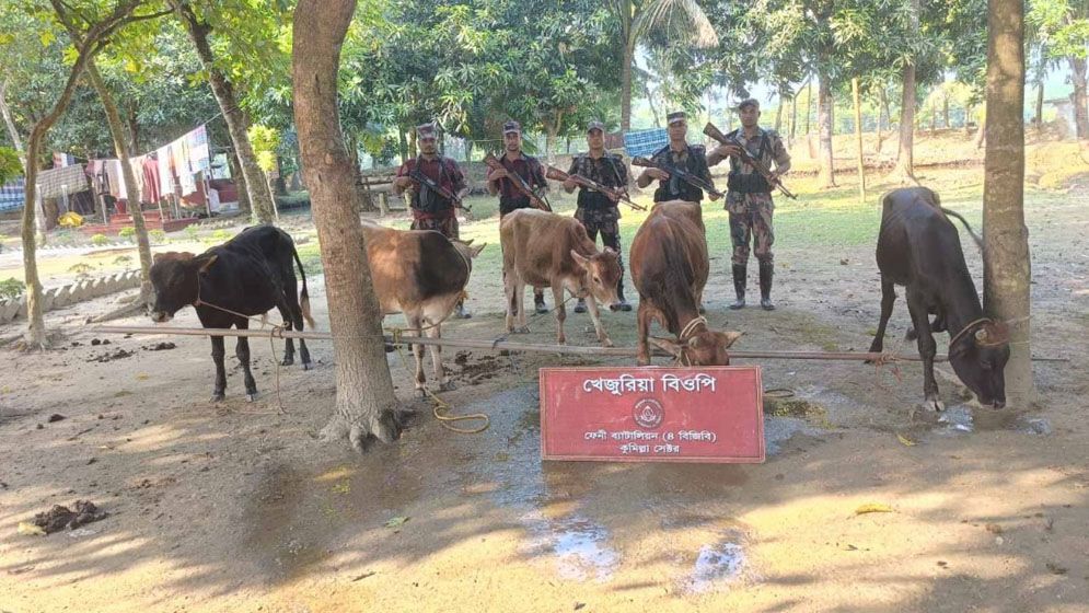
[[[1009,331],[1003,323],[986,322],[975,332],[955,338],[949,363],[957,377],[980,398],[995,408],[1006,406],[1006,362]]]

